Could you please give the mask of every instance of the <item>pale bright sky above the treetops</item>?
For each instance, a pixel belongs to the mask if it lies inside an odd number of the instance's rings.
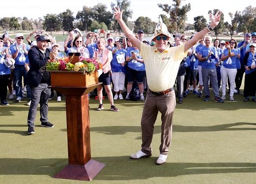
[[[133,16],[131,21],[135,21],[139,16],[149,17],[152,21],[158,22],[158,16],[164,12],[157,6],[157,3],[172,4],[172,0],[130,0]],[[78,10],[82,10],[83,6],[93,7],[97,3],[106,4],[109,10],[110,3],[116,3],[116,0],[78,0],[78,1],[63,1],[63,0],[11,0],[11,10],[3,8],[0,11],[0,18],[2,17],[28,17],[28,19],[37,19],[44,17],[48,13],[60,13],[66,9],[74,12],[74,16]],[[236,10],[242,11],[245,7],[252,5],[250,0],[184,0],[182,4],[190,3],[191,10],[187,13],[187,23],[194,23],[194,17],[203,15],[207,21],[209,20],[208,11],[213,9],[220,9],[224,13],[224,21],[230,22],[229,12],[235,13]],[[28,11],[29,10],[29,11]]]

